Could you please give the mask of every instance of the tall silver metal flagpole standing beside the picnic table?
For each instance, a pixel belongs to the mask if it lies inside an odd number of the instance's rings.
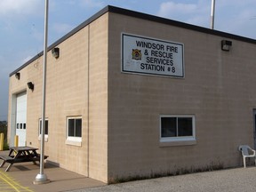
[[[40,172],[36,175],[34,184],[44,184],[50,182],[44,174],[44,132],[45,132],[45,84],[46,84],[46,64],[47,64],[47,41],[48,41],[48,1],[45,0],[44,8],[44,67],[43,67],[43,99],[42,99],[42,126],[41,126],[41,148],[40,148]]]

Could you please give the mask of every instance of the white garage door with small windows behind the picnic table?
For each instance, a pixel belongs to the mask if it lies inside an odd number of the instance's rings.
[[[16,135],[19,136],[19,146],[26,146],[27,122],[27,92],[17,95],[16,106]]]

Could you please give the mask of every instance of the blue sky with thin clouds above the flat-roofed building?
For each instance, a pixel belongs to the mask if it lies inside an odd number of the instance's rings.
[[[106,5],[210,28],[212,0],[49,0],[48,45]],[[216,0],[214,29],[256,39],[256,0]],[[43,51],[44,0],[0,0],[0,120],[7,120],[9,74]]]

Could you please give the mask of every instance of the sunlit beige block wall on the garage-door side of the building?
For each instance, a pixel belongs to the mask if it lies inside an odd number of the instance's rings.
[[[59,59],[48,52],[45,116],[49,134],[45,154],[49,161],[60,164],[60,167],[107,182],[108,14],[57,47],[60,48]],[[38,124],[42,116],[42,74],[43,58],[40,57],[20,70],[20,80],[10,77],[9,98],[27,90],[27,144],[37,148],[40,148]],[[27,88],[29,81],[35,84],[34,92]],[[15,130],[15,123],[11,124],[15,117],[11,116],[15,114],[12,105],[15,102],[10,100],[10,131]],[[81,146],[66,143],[68,116],[82,116]],[[13,140],[11,133],[9,140]]]

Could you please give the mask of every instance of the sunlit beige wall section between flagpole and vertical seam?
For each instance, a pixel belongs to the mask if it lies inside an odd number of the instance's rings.
[[[60,58],[49,57],[47,68],[46,117],[49,139],[45,150],[61,167],[88,175],[87,167],[87,66],[88,28],[58,45]],[[82,146],[66,144],[68,116],[82,116]],[[54,146],[54,148],[52,148]]]

